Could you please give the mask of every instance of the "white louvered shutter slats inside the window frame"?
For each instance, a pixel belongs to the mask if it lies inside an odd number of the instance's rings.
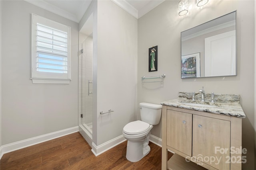
[[[68,73],[67,34],[37,23],[37,71]]]

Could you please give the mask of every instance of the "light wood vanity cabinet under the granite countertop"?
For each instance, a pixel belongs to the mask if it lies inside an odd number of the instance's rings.
[[[241,146],[241,118],[170,106],[162,108],[162,170],[241,170],[241,161],[230,161],[242,156],[230,152],[230,148]],[[175,152],[168,162],[167,150]]]

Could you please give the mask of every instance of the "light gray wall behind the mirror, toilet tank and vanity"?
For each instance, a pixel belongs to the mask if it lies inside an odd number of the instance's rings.
[[[160,104],[178,97],[178,92],[240,94],[246,113],[242,119],[242,147],[248,150],[245,170],[254,169],[254,1],[209,1],[195,5],[185,16],[178,16],[179,1],[166,0],[138,20],[138,103]],[[190,1],[189,3],[192,3]],[[237,76],[215,78],[180,78],[180,32],[237,10]],[[158,71],[148,72],[148,48],[158,45]],[[141,83],[141,76],[166,74],[164,83]],[[139,113],[136,107],[137,114]],[[138,119],[140,118],[138,114]],[[152,135],[162,137],[162,124]]]

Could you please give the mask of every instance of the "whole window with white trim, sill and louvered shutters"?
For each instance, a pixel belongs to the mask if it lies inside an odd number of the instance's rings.
[[[32,82],[69,84],[70,27],[32,14]]]

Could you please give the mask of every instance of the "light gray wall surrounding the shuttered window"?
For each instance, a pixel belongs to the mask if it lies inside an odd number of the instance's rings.
[[[2,145],[78,126],[78,23],[26,1],[2,2]],[[32,84],[31,13],[71,27],[70,84]]]

